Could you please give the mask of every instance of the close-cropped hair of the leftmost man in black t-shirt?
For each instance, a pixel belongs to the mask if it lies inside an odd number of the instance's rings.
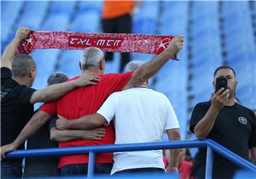
[[[26,76],[31,69],[36,69],[36,63],[28,54],[19,54],[11,62],[11,74],[14,78]]]

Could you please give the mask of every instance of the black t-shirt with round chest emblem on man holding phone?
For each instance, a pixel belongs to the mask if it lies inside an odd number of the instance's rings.
[[[206,115],[210,108],[210,101],[198,103],[193,109],[190,122],[190,130],[194,132],[194,127]],[[213,129],[206,137],[213,139],[218,144],[233,151],[238,156],[248,160],[248,149],[256,146],[256,117],[252,110],[245,108],[238,103],[233,106],[224,106],[220,109]],[[199,148],[197,165],[206,163],[206,148]],[[234,163],[228,159],[214,154],[213,176],[228,177],[229,173],[233,173],[238,169]],[[225,171],[227,171],[225,173]]]

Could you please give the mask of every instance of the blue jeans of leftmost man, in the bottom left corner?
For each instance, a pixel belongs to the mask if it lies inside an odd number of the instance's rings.
[[[22,164],[16,161],[1,161],[1,179],[22,178]]]

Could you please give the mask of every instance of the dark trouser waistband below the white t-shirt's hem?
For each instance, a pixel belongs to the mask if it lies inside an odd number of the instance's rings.
[[[163,168],[133,168],[123,171],[118,171],[114,175],[124,175],[124,174],[135,174],[135,173],[165,173]]]

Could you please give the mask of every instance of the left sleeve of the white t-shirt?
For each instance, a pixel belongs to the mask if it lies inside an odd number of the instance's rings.
[[[112,93],[107,100],[102,104],[97,113],[105,117],[106,122],[103,125],[110,125],[110,121],[114,118],[115,114],[115,103],[116,103],[116,93]]]

